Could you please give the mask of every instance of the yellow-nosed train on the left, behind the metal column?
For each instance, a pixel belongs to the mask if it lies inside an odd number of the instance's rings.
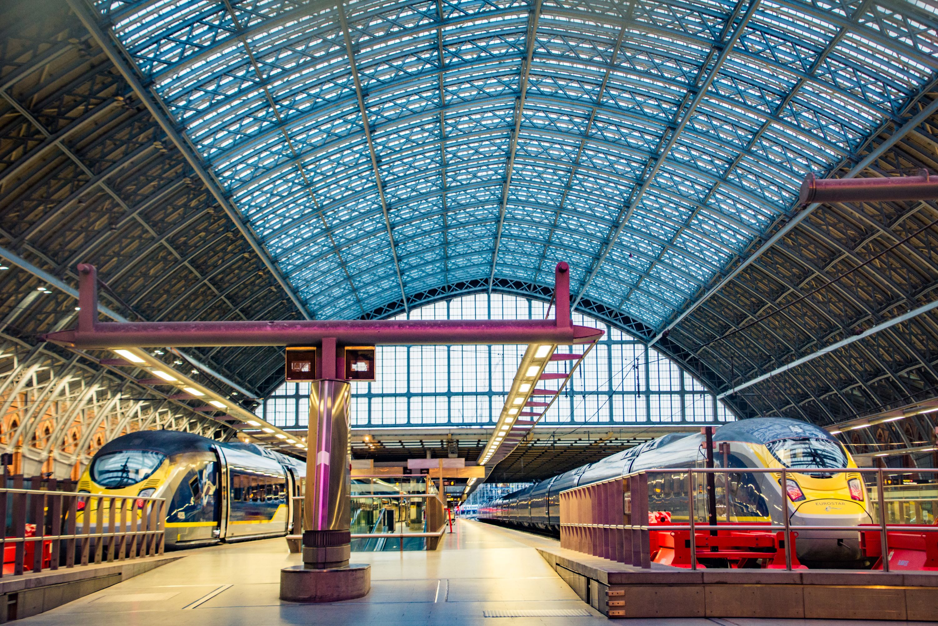
[[[287,534],[293,520],[291,496],[303,494],[305,479],[305,463],[253,444],[143,431],[102,446],[78,490],[165,498],[166,548],[172,549]],[[83,515],[90,514],[97,523],[96,506],[82,507],[76,521],[81,524]],[[100,512],[102,523],[108,523],[105,511]]]

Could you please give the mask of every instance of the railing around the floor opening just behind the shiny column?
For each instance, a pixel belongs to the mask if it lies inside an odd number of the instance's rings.
[[[401,551],[414,549],[406,547],[408,540],[419,540],[416,549],[435,550],[446,531],[445,501],[425,474],[356,476],[351,491],[353,551],[385,549],[388,540],[397,540]],[[305,498],[292,499],[294,531],[288,539],[295,542],[303,534]],[[389,527],[394,530],[385,530]]]

